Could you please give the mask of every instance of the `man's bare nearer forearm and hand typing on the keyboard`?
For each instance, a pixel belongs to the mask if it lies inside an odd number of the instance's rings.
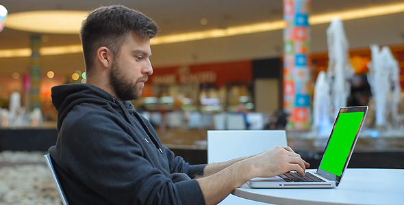
[[[305,167],[308,166],[309,164],[290,147],[277,146],[260,154],[240,159],[215,174],[199,178],[197,181],[205,203],[217,204],[251,178],[276,176],[290,171],[296,171],[304,176]],[[210,172],[209,169],[207,172]]]

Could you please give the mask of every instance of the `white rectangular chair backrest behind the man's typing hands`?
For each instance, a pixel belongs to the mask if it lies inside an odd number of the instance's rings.
[[[229,161],[287,144],[283,130],[207,131],[207,163]]]

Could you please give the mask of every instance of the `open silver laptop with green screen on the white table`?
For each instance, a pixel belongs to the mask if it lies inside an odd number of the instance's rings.
[[[270,178],[257,177],[249,180],[248,184],[253,188],[337,187],[351,159],[367,112],[367,106],[340,109],[316,172],[306,172],[303,179],[296,172]]]

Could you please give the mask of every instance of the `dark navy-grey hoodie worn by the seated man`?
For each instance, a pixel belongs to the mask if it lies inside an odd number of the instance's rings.
[[[52,87],[58,141],[49,148],[70,204],[205,204],[189,165],[134,106],[99,87]]]

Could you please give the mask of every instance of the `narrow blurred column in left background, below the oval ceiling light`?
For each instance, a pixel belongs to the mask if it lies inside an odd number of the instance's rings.
[[[34,108],[40,108],[40,44],[42,42],[40,34],[31,35],[31,66],[29,66],[29,106],[27,108],[32,111]]]

